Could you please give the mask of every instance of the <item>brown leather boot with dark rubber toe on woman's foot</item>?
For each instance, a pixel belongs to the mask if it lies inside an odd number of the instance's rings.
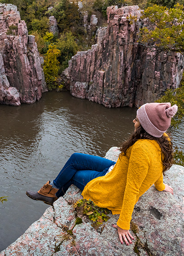
[[[52,205],[56,200],[56,192],[58,189],[53,188],[52,185],[49,184],[50,181],[47,181],[45,185],[38,192],[26,191],[26,195],[33,200],[40,200],[44,203]]]

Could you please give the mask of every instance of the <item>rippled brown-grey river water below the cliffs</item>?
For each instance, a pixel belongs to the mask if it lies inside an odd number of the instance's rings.
[[[39,102],[0,105],[0,251],[13,243],[48,205],[29,199],[53,180],[74,152],[104,156],[134,130],[136,108],[105,108],[69,92],[44,93]],[[184,129],[172,134],[184,148]]]

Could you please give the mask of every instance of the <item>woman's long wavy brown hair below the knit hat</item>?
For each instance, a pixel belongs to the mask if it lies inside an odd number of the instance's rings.
[[[171,168],[173,162],[172,142],[169,141],[168,137],[165,135],[162,135],[160,138],[153,137],[140,125],[131,137],[120,145],[120,155],[126,155],[127,149],[140,139],[154,140],[158,142],[162,151],[163,175],[165,175],[164,172]]]

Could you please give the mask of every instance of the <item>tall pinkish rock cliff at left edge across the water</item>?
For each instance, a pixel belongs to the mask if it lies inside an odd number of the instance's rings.
[[[35,37],[17,7],[0,4],[0,103],[33,103],[47,91]]]

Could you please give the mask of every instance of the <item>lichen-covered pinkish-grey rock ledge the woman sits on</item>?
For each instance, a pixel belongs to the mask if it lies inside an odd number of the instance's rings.
[[[118,149],[113,147],[105,157],[116,161],[118,154]],[[99,230],[91,226],[87,216],[80,216],[83,223],[74,227],[74,236],[70,237],[67,230],[73,228],[76,220],[73,204],[82,198],[80,190],[72,185],[64,198],[48,207],[44,215],[0,256],[182,256],[183,181],[184,167],[173,165],[164,182],[173,187],[174,195],[159,192],[153,185],[141,196],[132,215],[136,233],[131,231],[135,238],[132,245],[119,242],[117,230],[112,227],[118,215],[112,214]]]

